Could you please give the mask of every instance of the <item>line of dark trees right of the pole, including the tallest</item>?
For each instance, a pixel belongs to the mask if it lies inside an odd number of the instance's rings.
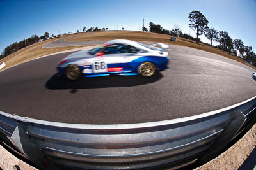
[[[241,39],[232,39],[227,31],[217,31],[214,27],[208,27],[209,21],[207,18],[200,13],[200,11],[191,11],[189,13],[189,28],[195,31],[196,38],[190,36],[188,34],[182,33],[180,28],[177,25],[174,25],[174,29],[168,30],[163,29],[161,25],[154,24],[150,22],[149,25],[149,32],[155,32],[159,34],[168,34],[171,36],[179,36],[186,39],[191,39],[196,41],[196,43],[200,42],[200,38],[202,34],[205,35],[209,41],[212,43],[218,42],[219,45],[216,48],[223,50],[223,52],[228,52],[232,55],[240,57],[246,62],[249,62],[253,66],[256,66],[256,55],[255,52],[252,50],[252,46],[244,46],[243,41]],[[148,32],[146,27],[142,27],[142,31]]]

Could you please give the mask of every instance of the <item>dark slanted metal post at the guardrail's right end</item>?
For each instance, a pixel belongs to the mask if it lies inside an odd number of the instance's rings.
[[[242,111],[234,111],[233,117],[230,119],[230,122],[227,124],[224,131],[220,134],[220,137],[216,139],[209,150],[206,150],[205,153],[202,154],[203,156],[200,157],[197,162],[199,164],[205,164],[217,157],[234,138],[234,136],[236,136],[237,132],[239,132],[245,121],[246,116]]]

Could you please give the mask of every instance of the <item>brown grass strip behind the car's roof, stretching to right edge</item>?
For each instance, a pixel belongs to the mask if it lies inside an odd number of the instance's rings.
[[[230,55],[227,52],[223,52],[218,48],[214,48],[210,45],[204,43],[196,43],[195,41],[177,38],[177,41],[170,41],[170,36],[164,34],[157,34],[152,32],[139,32],[139,31],[100,31],[100,32],[90,32],[87,34],[83,34],[81,36],[76,36],[73,38],[68,38],[66,41],[93,41],[93,40],[111,40],[111,39],[130,39],[133,41],[150,41],[150,42],[159,42],[159,43],[167,43],[171,45],[181,45],[188,46],[191,48],[196,48],[198,50],[204,50],[206,52],[216,53],[218,55],[223,55],[230,59],[236,60],[247,66],[256,69],[250,64],[247,64],[243,60]]]

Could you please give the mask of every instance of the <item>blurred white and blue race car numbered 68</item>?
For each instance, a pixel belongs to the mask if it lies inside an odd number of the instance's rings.
[[[124,39],[111,40],[98,48],[68,55],[58,63],[57,70],[69,80],[111,74],[150,77],[167,68],[170,57],[166,48],[168,45],[162,43],[147,46]]]

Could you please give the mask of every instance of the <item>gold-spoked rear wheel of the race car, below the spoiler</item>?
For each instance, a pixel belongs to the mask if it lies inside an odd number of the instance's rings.
[[[138,67],[138,74],[143,77],[150,77],[156,73],[156,66],[152,62],[143,62]]]

